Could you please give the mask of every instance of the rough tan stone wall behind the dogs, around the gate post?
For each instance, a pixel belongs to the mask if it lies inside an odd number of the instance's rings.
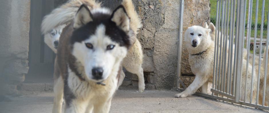
[[[104,6],[114,9],[121,0],[100,0]],[[179,37],[179,0],[133,0],[142,19],[138,39],[144,53],[144,76],[148,89],[171,89],[176,87],[177,51]],[[210,22],[209,0],[185,0],[183,34],[193,25]],[[184,40],[184,37],[183,37]],[[185,85],[194,78],[189,63],[188,52],[183,41],[181,74]],[[126,73],[124,86],[137,87],[137,76]]]

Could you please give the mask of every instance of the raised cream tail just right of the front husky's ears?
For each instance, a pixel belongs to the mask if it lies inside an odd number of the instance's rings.
[[[128,16],[130,17],[130,27],[134,31],[134,34],[137,34],[139,28],[142,27],[141,19],[137,15],[137,12],[134,9],[132,0],[123,0],[122,5],[125,8]]]

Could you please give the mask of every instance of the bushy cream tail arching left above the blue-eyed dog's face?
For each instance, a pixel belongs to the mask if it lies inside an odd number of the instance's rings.
[[[41,32],[45,34],[59,25],[71,22],[82,4],[88,5],[89,9],[100,7],[100,3],[95,0],[70,0],[43,18]]]

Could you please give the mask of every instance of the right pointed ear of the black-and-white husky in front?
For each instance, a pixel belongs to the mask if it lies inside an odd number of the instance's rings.
[[[124,32],[129,32],[130,30],[130,18],[128,17],[124,7],[122,5],[118,6],[112,13],[111,21],[116,23],[120,29]]]

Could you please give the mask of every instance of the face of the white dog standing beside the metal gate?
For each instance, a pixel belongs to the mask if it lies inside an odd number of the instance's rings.
[[[198,47],[201,43],[208,41],[210,29],[203,28],[201,26],[191,26],[185,32],[186,45],[191,47]]]

